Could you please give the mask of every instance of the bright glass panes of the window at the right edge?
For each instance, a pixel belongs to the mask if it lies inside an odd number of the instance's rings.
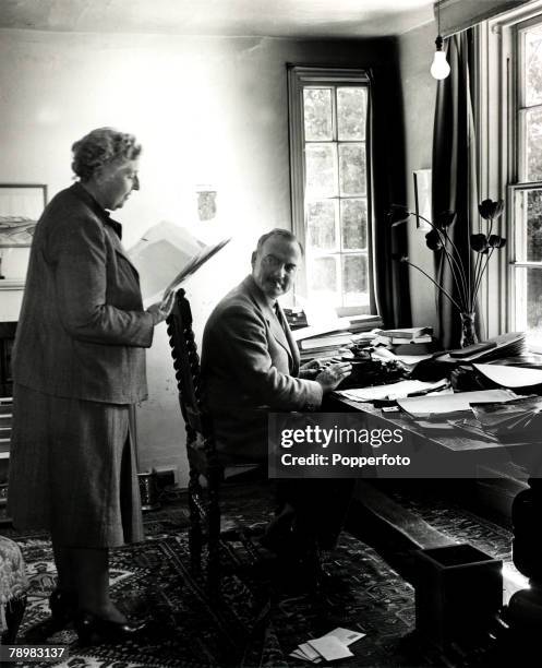
[[[542,16],[517,24],[513,45],[513,319],[516,330],[542,335]]]

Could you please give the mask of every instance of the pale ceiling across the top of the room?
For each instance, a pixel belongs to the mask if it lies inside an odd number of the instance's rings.
[[[0,0],[0,27],[81,33],[369,37],[433,19],[433,0]]]

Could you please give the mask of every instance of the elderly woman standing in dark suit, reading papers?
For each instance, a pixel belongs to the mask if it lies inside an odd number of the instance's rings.
[[[138,276],[108,211],[138,190],[141,146],[111,128],[73,144],[80,178],[48,204],[31,252],[13,353],[9,508],[51,534],[56,628],[82,642],[141,625],[109,597],[109,548],[143,537],[129,409],[146,398],[145,351],[170,303],[143,309]]]

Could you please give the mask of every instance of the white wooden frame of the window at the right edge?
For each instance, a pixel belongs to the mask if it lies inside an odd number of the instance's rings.
[[[487,267],[480,293],[482,315],[487,335],[517,329],[515,191],[531,184],[521,182],[518,174],[519,124],[517,109],[521,97],[517,63],[517,27],[528,27],[542,20],[542,0],[529,2],[477,26],[478,99],[477,127],[480,199],[505,198],[501,225],[507,239],[505,253],[497,253]]]

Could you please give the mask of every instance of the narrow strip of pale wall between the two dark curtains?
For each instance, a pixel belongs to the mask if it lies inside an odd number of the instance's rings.
[[[408,206],[414,211],[413,176],[415,169],[431,169],[433,151],[433,119],[435,112],[436,81],[430,74],[435,50],[436,25],[430,23],[406,33],[398,39],[402,82],[406,174]],[[408,223],[409,258],[433,275],[433,253],[425,246],[426,230]],[[410,270],[412,324],[437,325],[434,289],[430,281],[414,269]]]

